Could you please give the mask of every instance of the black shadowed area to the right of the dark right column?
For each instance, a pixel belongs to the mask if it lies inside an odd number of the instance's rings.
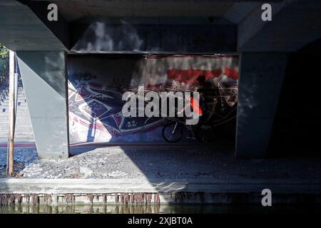
[[[290,55],[272,128],[270,155],[320,156],[320,61],[320,54],[314,51]]]

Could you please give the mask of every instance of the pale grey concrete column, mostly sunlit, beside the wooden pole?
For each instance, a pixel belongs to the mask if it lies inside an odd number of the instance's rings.
[[[39,158],[66,159],[68,89],[66,53],[17,51]]]

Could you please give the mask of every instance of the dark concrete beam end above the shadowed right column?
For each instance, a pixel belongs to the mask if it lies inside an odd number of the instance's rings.
[[[261,4],[238,24],[238,51],[292,52],[321,37],[321,2],[272,3],[272,21],[262,21]]]

